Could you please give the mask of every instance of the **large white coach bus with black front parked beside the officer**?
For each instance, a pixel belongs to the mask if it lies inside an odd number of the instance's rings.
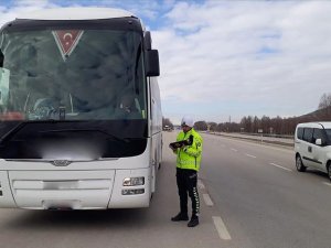
[[[26,13],[0,30],[0,207],[148,207],[161,162],[159,55],[132,13]]]

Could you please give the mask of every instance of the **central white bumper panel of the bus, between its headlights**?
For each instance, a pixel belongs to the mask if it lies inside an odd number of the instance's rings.
[[[18,207],[33,209],[107,208],[114,171],[10,172]]]

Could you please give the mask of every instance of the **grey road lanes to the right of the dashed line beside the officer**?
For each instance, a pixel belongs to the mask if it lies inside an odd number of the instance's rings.
[[[203,137],[200,174],[232,237],[229,247],[331,247],[325,174],[297,172],[288,148]]]

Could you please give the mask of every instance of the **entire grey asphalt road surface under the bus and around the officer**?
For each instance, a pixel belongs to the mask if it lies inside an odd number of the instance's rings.
[[[0,209],[1,248],[330,248],[331,184],[295,169],[293,152],[203,134],[201,225],[178,213],[174,163],[164,132],[158,192],[143,209],[41,212]]]

